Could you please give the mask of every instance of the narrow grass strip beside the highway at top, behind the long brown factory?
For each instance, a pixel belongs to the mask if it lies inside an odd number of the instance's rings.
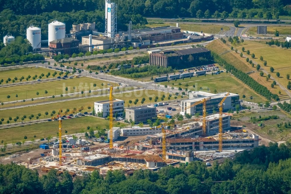
[[[218,33],[220,32],[221,28],[223,31],[228,31],[230,28],[224,25],[215,25],[215,24],[188,24],[185,22],[179,22],[181,30],[189,30],[189,31],[196,31],[196,32],[205,32],[205,33]],[[164,24],[155,24],[155,23],[148,23],[146,26],[148,27],[159,27],[159,26],[176,26],[176,23],[165,22]]]

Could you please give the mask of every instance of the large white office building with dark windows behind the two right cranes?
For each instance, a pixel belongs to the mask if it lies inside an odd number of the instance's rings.
[[[189,99],[188,100],[182,100],[181,101],[181,112],[180,114],[185,115],[191,114],[194,115],[196,112],[199,112],[200,115],[202,115],[203,112],[203,104],[198,104],[194,107],[188,108],[185,112],[184,108],[187,106],[190,106],[199,100],[202,100],[204,98],[211,97],[210,100],[206,101],[206,111],[207,112],[213,112],[213,110],[218,111],[218,104],[221,102],[221,100],[224,98],[224,96],[227,94],[227,92],[218,93],[218,94],[211,94],[207,92],[202,91],[192,91],[189,92]],[[238,94],[232,94],[230,93],[226,100],[223,103],[223,110],[228,110],[234,108],[236,105],[239,105],[239,95]]]

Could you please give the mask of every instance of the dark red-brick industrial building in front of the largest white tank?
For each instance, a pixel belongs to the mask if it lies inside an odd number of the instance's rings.
[[[75,38],[61,38],[61,39],[56,39],[56,40],[52,40],[51,42],[49,42],[49,54],[52,55],[56,55],[59,54],[59,52],[61,54],[73,54],[73,53],[78,53],[79,51],[79,40],[75,39]],[[67,48],[71,48],[71,49],[67,49]],[[61,50],[57,50],[54,51],[56,49],[61,49]]]

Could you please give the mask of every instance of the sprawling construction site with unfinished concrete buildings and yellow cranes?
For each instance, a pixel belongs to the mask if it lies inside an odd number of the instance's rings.
[[[113,86],[109,95],[109,145],[90,145],[82,139],[67,137],[62,144],[62,115],[56,117],[59,121],[58,145],[53,145],[51,151],[41,154],[41,158],[21,163],[28,168],[48,172],[57,169],[59,173],[67,170],[72,176],[84,175],[98,170],[105,175],[108,170],[123,170],[125,174],[132,174],[134,170],[158,170],[166,165],[179,163],[188,164],[191,161],[212,161],[219,158],[235,156],[235,153],[244,149],[259,146],[259,136],[248,133],[243,129],[233,129],[230,126],[230,114],[223,113],[223,102],[229,95],[225,94],[219,102],[219,113],[206,116],[206,102],[210,98],[203,98],[196,103],[185,107],[185,110],[200,103],[203,104],[202,118],[196,118],[187,123],[176,123],[172,126],[157,126],[155,134],[146,135],[133,144],[118,144],[114,140],[120,136],[120,128],[113,127]],[[76,111],[76,110],[74,110]],[[78,111],[78,110],[77,110]],[[133,127],[136,130],[138,127]],[[146,127],[141,130],[150,130]],[[156,130],[157,129],[157,130]],[[130,130],[130,128],[127,128]],[[42,146],[42,145],[40,145]],[[49,149],[49,145],[43,145]]]

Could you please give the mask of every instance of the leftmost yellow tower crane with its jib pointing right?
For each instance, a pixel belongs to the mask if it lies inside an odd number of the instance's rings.
[[[62,161],[62,153],[63,153],[63,142],[62,142],[62,127],[63,127],[63,122],[62,122],[62,117],[66,114],[72,114],[74,112],[79,112],[83,110],[84,108],[91,107],[92,105],[86,105],[86,106],[81,106],[80,108],[77,108],[75,110],[71,110],[69,112],[62,112],[62,110],[59,110],[59,114],[56,117],[52,117],[52,119],[58,119],[58,141],[59,141],[59,150],[58,150],[58,157],[59,157],[59,165],[63,164]],[[94,105],[93,105],[94,106]]]

